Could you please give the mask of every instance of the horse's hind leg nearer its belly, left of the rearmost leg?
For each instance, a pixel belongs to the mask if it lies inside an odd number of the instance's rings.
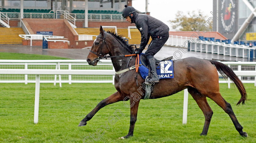
[[[204,128],[200,135],[207,135],[209,125],[212,119],[213,111],[209,106],[206,100],[206,97],[200,94],[196,89],[188,89],[188,92],[192,95],[194,100],[197,102],[197,105],[204,113],[204,117],[205,117]]]

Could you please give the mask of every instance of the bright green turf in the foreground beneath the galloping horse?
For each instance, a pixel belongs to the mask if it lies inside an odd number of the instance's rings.
[[[129,131],[130,109],[123,102],[110,104],[87,122],[77,127],[79,122],[103,99],[116,92],[111,83],[41,83],[39,122],[33,123],[35,84],[0,83],[0,142],[83,142],[90,134],[95,134],[108,117],[116,110],[124,116],[115,124],[108,124],[109,130],[94,143],[240,143],[256,142],[255,87],[245,84],[248,98],[246,105],[236,106],[240,99],[237,89],[220,84],[221,94],[228,101],[248,137],[236,131],[229,116],[212,100],[208,100],[214,114],[207,136],[200,136],[204,115],[189,95],[188,121],[182,124],[183,92],[155,100],[141,100],[134,136],[126,140],[118,139]],[[89,141],[87,138],[85,142]]]

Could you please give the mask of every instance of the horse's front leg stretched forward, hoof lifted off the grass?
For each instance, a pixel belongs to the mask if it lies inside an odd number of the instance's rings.
[[[108,104],[116,103],[118,101],[123,101],[124,96],[123,94],[120,94],[118,91],[112,95],[110,95],[108,98],[102,100],[98,105],[89,113],[86,115],[86,117],[80,122],[78,127],[85,126],[87,123],[86,121],[91,120],[91,118],[103,107],[105,107]]]

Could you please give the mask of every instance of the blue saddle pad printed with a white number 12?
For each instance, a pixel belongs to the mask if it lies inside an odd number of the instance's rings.
[[[141,53],[140,56],[144,54]],[[140,61],[141,64],[141,61]],[[173,62],[172,60],[169,61],[162,61],[160,64],[157,66],[158,69],[156,69],[157,75],[159,79],[163,78],[173,78]],[[140,70],[140,75],[142,78],[146,78],[148,76],[148,68],[145,67],[144,65],[141,65],[139,67]]]

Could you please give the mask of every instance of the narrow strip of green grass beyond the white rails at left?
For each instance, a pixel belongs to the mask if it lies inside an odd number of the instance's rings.
[[[22,54],[22,53],[2,53],[0,52],[1,60],[69,60],[68,58],[36,55],[36,54]]]

